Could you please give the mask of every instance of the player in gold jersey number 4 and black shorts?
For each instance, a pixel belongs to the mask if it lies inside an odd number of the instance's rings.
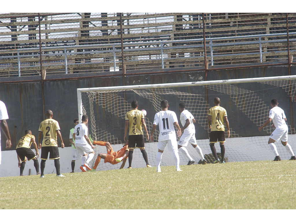
[[[207,124],[211,129],[210,132],[210,148],[215,157],[215,161],[213,163],[218,163],[220,160],[218,159],[217,152],[215,149],[215,143],[218,141],[220,142],[221,148],[221,163],[224,162],[224,155],[225,155],[225,128],[224,122],[227,127],[227,136],[230,136],[229,130],[229,122],[227,119],[227,112],[226,110],[220,106],[220,99],[216,97],[214,99],[215,106],[209,109],[208,116],[207,116]]]

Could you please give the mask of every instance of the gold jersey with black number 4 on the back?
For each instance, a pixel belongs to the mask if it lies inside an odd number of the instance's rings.
[[[212,116],[211,131],[225,131],[224,117],[227,116],[226,110],[221,106],[214,106],[209,109],[209,116]]]

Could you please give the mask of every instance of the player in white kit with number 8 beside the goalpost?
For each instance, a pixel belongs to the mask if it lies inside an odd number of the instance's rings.
[[[89,162],[92,160],[92,158],[94,158],[94,145],[91,143],[88,137],[89,134],[86,126],[88,121],[88,116],[83,115],[81,123],[75,126],[73,132],[73,138],[75,138],[75,147],[78,151],[78,155],[82,155],[80,166],[82,172],[91,170],[89,167]]]

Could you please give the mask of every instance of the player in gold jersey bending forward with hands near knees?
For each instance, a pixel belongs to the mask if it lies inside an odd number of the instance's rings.
[[[31,150],[31,145],[36,151],[35,153]],[[25,130],[25,136],[22,136],[17,143],[16,152],[17,152],[17,159],[18,159],[18,166],[20,168],[20,176],[23,176],[25,164],[26,164],[26,157],[28,160],[34,161],[34,167],[36,169],[37,175],[39,175],[39,162],[37,158],[39,157],[39,152],[37,149],[37,144],[35,141],[35,136],[32,135],[32,132],[29,129]]]

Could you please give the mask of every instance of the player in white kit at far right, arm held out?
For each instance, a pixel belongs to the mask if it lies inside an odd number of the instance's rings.
[[[288,144],[288,126],[286,124],[287,118],[284,110],[278,107],[278,104],[279,103],[277,99],[271,99],[272,109],[269,111],[269,117],[262,126],[258,127],[258,130],[261,131],[261,129],[267,126],[272,120],[274,124],[272,124],[271,126],[275,127],[276,129],[273,131],[273,133],[271,133],[271,136],[268,140],[268,145],[276,155],[274,161],[281,160],[281,157],[279,156],[279,153],[276,149],[276,145],[274,144],[275,141],[279,140],[281,140],[281,144],[283,144],[283,146],[291,154],[290,160],[296,160],[292,147],[290,146],[290,144]]]

